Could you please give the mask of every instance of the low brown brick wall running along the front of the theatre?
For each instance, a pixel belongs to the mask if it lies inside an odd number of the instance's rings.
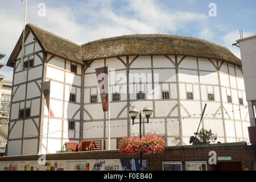
[[[166,147],[164,154],[161,155],[143,155],[148,159],[148,168],[152,170],[162,170],[164,161],[182,161],[182,167],[185,171],[186,161],[207,161],[208,170],[215,170],[215,165],[208,163],[209,151],[216,151],[217,156],[231,156],[232,160],[221,160],[217,163],[232,162],[241,163],[242,169],[248,168],[254,170],[253,163],[256,162],[256,146],[247,146],[246,142],[238,143],[220,143],[203,144],[196,146],[174,146]],[[38,160],[38,155],[23,156],[5,156],[0,157],[0,161],[13,160]],[[73,159],[119,159],[119,158],[139,158],[139,155],[120,154],[119,150],[110,151],[88,151],[88,152],[70,152],[60,154],[48,154],[46,160],[73,160]]]

